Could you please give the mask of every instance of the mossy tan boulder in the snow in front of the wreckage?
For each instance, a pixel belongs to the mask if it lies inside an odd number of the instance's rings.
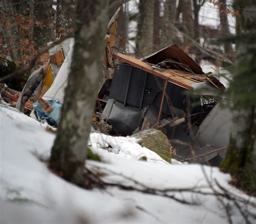
[[[131,137],[139,139],[138,143],[141,146],[149,148],[167,162],[171,162],[171,144],[166,135],[160,130],[149,129],[133,134]]]

